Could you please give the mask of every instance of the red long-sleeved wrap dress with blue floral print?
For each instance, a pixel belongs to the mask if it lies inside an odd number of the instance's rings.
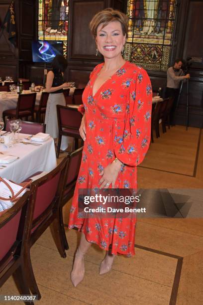
[[[77,227],[89,242],[112,254],[134,255],[135,217],[86,218],[78,211],[78,190],[100,188],[101,171],[115,157],[123,165],[115,188],[137,189],[137,168],[150,144],[152,89],[147,72],[128,61],[93,96],[103,63],[95,67],[83,93],[86,141],[69,228]]]

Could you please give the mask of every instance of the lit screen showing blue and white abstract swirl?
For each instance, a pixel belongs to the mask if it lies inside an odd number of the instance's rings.
[[[32,42],[32,60],[51,62],[56,55],[63,55],[63,41],[38,40]]]

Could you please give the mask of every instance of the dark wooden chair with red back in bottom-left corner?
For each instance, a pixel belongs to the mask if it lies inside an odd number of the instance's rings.
[[[27,191],[0,216],[0,287],[12,275],[20,295],[30,295],[24,264],[24,246],[29,234],[29,199]],[[34,305],[33,302],[25,304]]]

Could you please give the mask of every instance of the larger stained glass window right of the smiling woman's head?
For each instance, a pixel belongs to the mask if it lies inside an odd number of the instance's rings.
[[[128,0],[124,58],[148,70],[166,71],[170,62],[176,0]]]

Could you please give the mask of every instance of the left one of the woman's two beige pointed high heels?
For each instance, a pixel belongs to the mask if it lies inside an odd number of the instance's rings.
[[[82,267],[79,269],[79,272],[76,272],[74,270],[74,267],[77,267],[77,265],[80,261],[82,263]],[[84,276],[85,276],[84,253],[78,247],[76,254],[75,254],[75,258],[74,258],[73,269],[71,272],[71,281],[73,283],[73,286],[76,287],[80,282],[82,282],[84,279]]]

